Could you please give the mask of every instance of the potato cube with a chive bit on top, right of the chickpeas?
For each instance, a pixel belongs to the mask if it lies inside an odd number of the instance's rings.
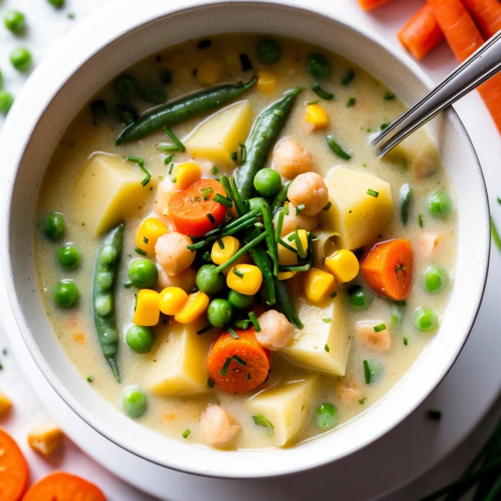
[[[321,210],[321,222],[339,232],[340,248],[357,249],[377,240],[390,217],[393,201],[390,184],[379,177],[348,167],[336,167],[325,181],[329,210]],[[377,196],[368,194],[377,192]]]

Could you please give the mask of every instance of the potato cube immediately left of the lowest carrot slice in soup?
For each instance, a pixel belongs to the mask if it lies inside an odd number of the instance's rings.
[[[152,353],[146,376],[148,391],[159,396],[184,396],[209,390],[207,356],[211,336],[198,335],[206,320],[192,324],[174,322],[157,332],[158,349]]]

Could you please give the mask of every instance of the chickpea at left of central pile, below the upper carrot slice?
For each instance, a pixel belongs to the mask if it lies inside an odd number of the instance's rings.
[[[193,242],[189,236],[172,231],[165,233],[155,243],[156,260],[169,277],[174,277],[191,266],[195,253],[186,248]]]

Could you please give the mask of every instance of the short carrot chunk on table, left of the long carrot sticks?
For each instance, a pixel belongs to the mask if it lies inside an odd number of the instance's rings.
[[[444,36],[431,6],[425,4],[412,16],[398,32],[398,40],[416,59],[422,59],[443,42]]]

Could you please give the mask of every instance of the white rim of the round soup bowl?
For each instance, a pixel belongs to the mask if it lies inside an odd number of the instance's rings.
[[[300,0],[301,1],[301,0]],[[421,403],[422,401],[426,398],[427,395],[429,395],[440,383],[440,381],[445,377],[447,372],[450,370],[452,367],[454,361],[456,360],[457,356],[459,355],[460,351],[462,350],[464,343],[466,342],[469,333],[471,332],[473,323],[478,315],[478,311],[480,308],[481,304],[481,299],[483,297],[483,293],[485,290],[485,284],[486,284],[486,278],[487,278],[487,271],[488,271],[488,262],[489,262],[489,248],[490,248],[490,226],[488,221],[485,221],[484,224],[484,235],[486,237],[486,241],[483,242],[485,245],[485,256],[482,257],[483,261],[481,262],[480,266],[482,266],[482,271],[483,271],[483,276],[482,279],[480,280],[480,289],[481,289],[481,294],[479,295],[478,298],[476,298],[476,304],[472,308],[472,316],[471,316],[471,322],[468,323],[467,329],[465,329],[465,333],[461,338],[461,342],[456,345],[456,349],[454,352],[451,352],[450,354],[450,361],[448,364],[446,364],[442,370],[442,372],[436,377],[434,380],[433,384],[428,386],[425,392],[421,392],[420,396],[418,398],[414,398],[412,400],[412,403],[407,405],[407,408],[405,411],[401,412],[400,415],[397,418],[393,418],[392,420],[389,421],[389,424],[386,426],[380,427],[377,433],[372,434],[370,438],[367,438],[365,441],[361,441],[358,443],[356,446],[351,447],[348,451],[346,451],[343,455],[338,455],[336,456],[335,454],[329,455],[320,459],[309,459],[308,461],[305,461],[305,464],[301,464],[302,461],[298,461],[297,465],[295,467],[289,468],[289,469],[284,469],[278,467],[276,470],[273,471],[262,471],[262,472],[251,472],[249,474],[241,474],[241,473],[233,473],[233,472],[228,472],[227,470],[222,471],[221,469],[216,470],[216,469],[207,469],[206,466],[204,467],[186,467],[186,466],[179,466],[178,463],[175,461],[172,461],[171,458],[168,458],[166,460],[159,460],[157,457],[152,456],[149,454],[147,451],[138,449],[137,447],[133,447],[130,444],[125,443],[125,441],[122,439],[120,434],[115,434],[115,436],[110,436],[110,430],[107,430],[104,428],[104,426],[100,426],[98,422],[96,422],[93,418],[90,412],[85,408],[84,405],[82,405],[71,393],[68,389],[65,388],[64,385],[61,384],[60,378],[55,374],[55,372],[52,370],[52,368],[49,366],[49,364],[46,362],[44,356],[42,355],[42,352],[37,349],[36,343],[33,339],[33,336],[30,332],[30,329],[28,327],[27,321],[24,317],[23,311],[21,309],[20,301],[19,298],[16,294],[16,285],[14,282],[14,276],[12,273],[12,266],[11,266],[11,256],[9,254],[9,249],[11,245],[11,238],[10,238],[10,224],[11,224],[11,212],[12,212],[12,197],[13,197],[13,192],[14,192],[14,186],[15,186],[15,179],[19,173],[19,168],[22,162],[22,159],[24,157],[25,149],[26,146],[29,144],[32,135],[34,131],[37,128],[37,125],[39,124],[41,118],[43,117],[46,109],[48,106],[51,104],[51,102],[54,100],[54,98],[57,96],[58,92],[60,89],[68,83],[68,81],[72,78],[72,76],[83,66],[85,65],[90,59],[92,59],[96,54],[100,53],[106,47],[109,45],[120,41],[124,36],[127,34],[131,33],[137,28],[143,27],[147,24],[153,23],[155,21],[159,21],[163,18],[187,12],[190,10],[194,9],[206,9],[206,8],[213,8],[216,6],[223,6],[223,5],[232,5],[233,7],[237,5],[252,5],[252,6],[263,6],[264,8],[266,7],[280,7],[284,9],[290,9],[290,10],[295,10],[295,11],[300,11],[305,14],[314,14],[317,16],[320,16],[324,19],[327,19],[329,21],[338,23],[340,25],[344,25],[346,28],[348,28],[351,32],[354,32],[356,36],[363,38],[367,41],[370,41],[376,45],[378,45],[380,48],[382,48],[384,51],[386,51],[390,56],[392,56],[395,60],[397,60],[402,66],[406,67],[406,69],[413,74],[413,76],[419,80],[420,83],[422,83],[425,87],[431,88],[433,86],[433,82],[429,77],[426,76],[426,74],[419,68],[419,66],[411,60],[406,54],[402,54],[398,52],[389,42],[384,40],[382,37],[379,35],[376,35],[370,30],[366,30],[365,28],[361,29],[357,27],[354,23],[352,23],[350,20],[345,19],[342,16],[339,16],[335,13],[332,13],[328,11],[325,6],[321,5],[321,2],[318,2],[317,0],[313,0],[310,2],[305,2],[305,5],[300,4],[299,2],[295,0],[186,0],[185,2],[182,2],[181,5],[176,5],[174,6],[163,6],[162,12],[157,12],[157,10],[150,9],[148,11],[148,14],[140,18],[139,20],[136,20],[133,24],[128,24],[125,29],[122,29],[119,32],[114,32],[110,38],[108,38],[105,42],[102,42],[99,44],[98,47],[93,48],[92,52],[89,53],[87,51],[87,57],[84,59],[81,59],[78,62],[77,66],[71,66],[71,70],[69,71],[68,68],[65,68],[65,74],[64,77],[59,80],[59,86],[55,90],[51,90],[48,95],[45,97],[45,102],[44,105],[40,108],[40,111],[37,112],[37,115],[35,117],[35,120],[32,122],[31,127],[26,130],[26,133],[24,135],[24,143],[22,149],[19,150],[17,154],[17,162],[15,165],[12,166],[12,178],[9,180],[10,182],[7,183],[6,186],[6,196],[4,198],[4,208],[6,209],[6,214],[9,214],[7,217],[4,218],[2,222],[2,267],[4,270],[4,277],[6,281],[6,286],[9,291],[12,292],[12,294],[9,294],[9,299],[11,303],[11,308],[14,312],[14,316],[16,319],[16,323],[19,327],[19,330],[21,332],[22,338],[24,343],[27,345],[32,357],[34,358],[35,362],[37,363],[38,367],[40,370],[44,373],[44,376],[46,379],[49,381],[51,386],[56,390],[56,392],[61,396],[61,398],[69,405],[69,407],[77,413],[87,424],[89,424],[93,429],[95,429],[98,433],[103,435],[105,438],[108,440],[112,441],[116,445],[124,448],[125,450],[128,450],[129,452],[142,457],[150,462],[159,464],[161,466],[169,467],[172,469],[177,469],[179,471],[183,472],[188,472],[188,473],[194,473],[194,474],[199,474],[199,475],[205,475],[205,476],[218,476],[218,477],[227,477],[227,478],[251,478],[251,477],[266,477],[266,476],[283,476],[283,475],[288,475],[292,473],[296,473],[299,471],[307,471],[313,468],[316,468],[318,466],[324,465],[331,463],[335,460],[340,460],[343,457],[347,457],[348,455],[362,449],[363,447],[367,446],[369,443],[377,440],[384,434],[386,434],[390,429],[398,425],[403,419],[405,419],[409,414],[411,414]],[[102,19],[104,16],[109,15],[110,13],[114,12],[116,9],[123,8],[123,0],[115,0],[114,2],[110,2],[108,6],[102,7],[100,10],[96,11],[92,15],[90,15],[87,19],[81,22],[78,27],[76,27],[69,35],[65,37],[66,42],[70,43],[63,43],[59,44],[53,51],[51,51],[50,55],[39,65],[39,67],[35,70],[34,76],[36,75],[36,78],[43,78],[44,73],[47,73],[49,68],[51,67],[52,64],[54,64],[54,60],[56,58],[60,58],[63,54],[65,54],[67,51],[70,50],[71,45],[75,44],[78,42],[80,38],[85,36],[85,31],[91,27],[94,23],[98,22],[100,19]],[[151,15],[151,11],[154,11],[154,15]],[[32,77],[31,80],[34,78]],[[23,101],[23,96],[28,93],[28,87],[25,88],[25,90],[22,91],[20,97],[18,98],[18,102],[22,104]],[[16,103],[18,104],[18,103]],[[17,106],[15,104],[15,109],[17,109]],[[19,106],[19,105],[18,105]],[[483,177],[483,173],[481,171],[478,158],[476,155],[476,152],[474,151],[473,145],[471,144],[471,140],[469,139],[469,136],[464,128],[464,125],[462,124],[461,120],[457,116],[456,112],[453,109],[449,109],[445,112],[449,119],[453,122],[454,128],[457,130],[459,129],[464,137],[467,139],[468,143],[465,144],[465,148],[469,147],[470,152],[472,154],[472,164],[476,163],[475,167],[477,169],[477,173],[479,174],[479,179],[481,180],[481,191],[483,194],[483,202],[484,202],[484,207],[483,211],[488,215],[489,209],[488,209],[488,201],[487,201],[487,190],[485,186],[485,180]],[[9,124],[13,121],[12,114],[8,117],[6,121],[6,126],[9,126]],[[1,140],[0,140],[1,143]],[[421,354],[422,355],[422,354]],[[410,369],[409,369],[410,370]],[[382,397],[379,402],[382,402],[385,399],[385,397]],[[375,404],[376,405],[376,404]],[[367,412],[367,411],[366,411]],[[319,437],[314,437],[314,438],[321,438],[323,435],[320,435]],[[191,445],[190,445],[191,447]],[[193,450],[196,450],[196,448],[193,447]],[[261,451],[267,451],[270,449],[260,449]],[[248,453],[248,450],[244,451]],[[226,453],[227,454],[227,453]],[[311,456],[311,454],[310,454]]]

